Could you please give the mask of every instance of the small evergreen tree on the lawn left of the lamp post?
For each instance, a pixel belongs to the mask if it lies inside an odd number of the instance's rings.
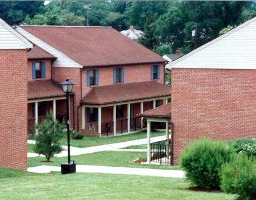
[[[64,128],[63,124],[54,119],[52,112],[47,114],[46,119],[37,126],[38,135],[35,136],[36,143],[33,150],[37,154],[45,155],[47,161],[50,161],[54,154],[63,150],[60,139],[63,137]]]

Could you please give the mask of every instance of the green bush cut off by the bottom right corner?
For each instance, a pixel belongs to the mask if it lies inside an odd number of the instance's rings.
[[[221,167],[221,189],[236,193],[239,199],[256,199],[256,160],[246,155],[237,155],[234,161]]]

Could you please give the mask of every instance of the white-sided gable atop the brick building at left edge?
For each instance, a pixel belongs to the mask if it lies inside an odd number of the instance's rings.
[[[0,18],[0,49],[29,49],[31,42]]]

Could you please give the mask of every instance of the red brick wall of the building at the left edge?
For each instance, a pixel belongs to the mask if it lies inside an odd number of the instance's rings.
[[[27,168],[26,50],[0,50],[0,166]]]

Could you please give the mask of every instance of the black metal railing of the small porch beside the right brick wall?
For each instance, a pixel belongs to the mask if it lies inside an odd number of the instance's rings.
[[[162,140],[159,142],[150,143],[151,162],[158,162],[159,164],[171,164],[172,156],[172,142],[169,140]]]

